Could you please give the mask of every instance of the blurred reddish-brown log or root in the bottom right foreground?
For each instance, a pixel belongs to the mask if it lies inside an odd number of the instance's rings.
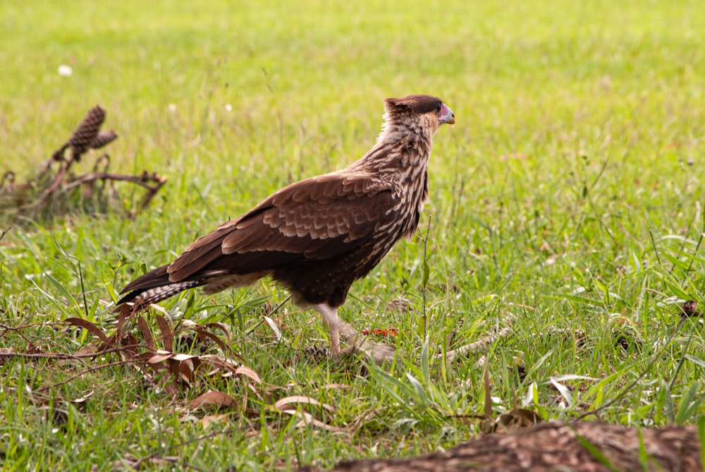
[[[319,469],[305,467],[300,472]],[[695,426],[627,428],[598,422],[551,421],[508,434],[486,435],[446,452],[406,459],[339,464],[345,472],[441,471],[702,471]]]

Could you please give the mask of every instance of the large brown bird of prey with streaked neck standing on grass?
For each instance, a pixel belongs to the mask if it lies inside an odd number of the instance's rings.
[[[455,115],[430,95],[388,98],[384,109],[382,131],[362,159],[278,190],[125,286],[117,305],[131,302],[137,311],[193,287],[214,294],[271,275],[295,303],[321,314],[333,355],[341,353],[342,332],[350,349],[387,357],[357,341],[338,307],[394,243],[413,236],[429,195],[433,135]]]

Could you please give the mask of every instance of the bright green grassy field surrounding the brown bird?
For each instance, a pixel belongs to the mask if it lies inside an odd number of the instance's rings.
[[[225,322],[231,358],[261,384],[197,375],[173,396],[167,374],[147,382],[116,353],[3,358],[3,471],[290,470],[443,449],[481,432],[484,365],[495,414],[516,394],[544,420],[600,406],[635,427],[705,418],[705,328],[680,316],[705,291],[699,1],[283,3],[0,2],[0,172],[32,176],[102,104],[120,135],[111,169],[168,177],[133,220],[121,207],[140,193],[126,183],[99,215],[0,214],[13,226],[0,349],[85,352],[95,337],[62,320],[110,334],[114,294],[135,274],[286,183],[353,162],[384,97],[424,92],[457,121],[434,143],[423,231],[341,310],[398,329],[407,355],[384,368],[300,356],[326,331],[269,282],[185,294],[163,304],[176,327]],[[388,306],[398,298],[407,310]],[[433,356],[507,326],[482,353]],[[236,401],[194,408],[208,389]],[[334,412],[274,407],[293,396]],[[305,411],[321,424],[303,425]]]

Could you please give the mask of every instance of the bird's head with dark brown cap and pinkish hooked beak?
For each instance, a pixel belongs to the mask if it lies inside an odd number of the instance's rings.
[[[403,98],[384,100],[385,118],[392,123],[419,123],[431,133],[438,131],[443,123],[455,123],[455,114],[439,97],[432,95],[409,95]]]

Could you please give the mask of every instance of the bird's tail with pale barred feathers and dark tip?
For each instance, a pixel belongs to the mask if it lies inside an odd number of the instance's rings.
[[[152,271],[147,272],[137,279],[126,285],[125,288],[120,292],[121,294],[126,294],[118,300],[116,303],[116,308],[114,311],[120,311],[121,305],[123,303],[132,302],[133,311],[139,311],[152,303],[159,303],[162,300],[166,300],[171,296],[178,294],[184,290],[192,289],[197,286],[202,286],[207,283],[207,279],[190,279],[182,280],[180,282],[172,282],[169,280],[169,274],[166,271],[168,265],[162,267],[157,267]]]

